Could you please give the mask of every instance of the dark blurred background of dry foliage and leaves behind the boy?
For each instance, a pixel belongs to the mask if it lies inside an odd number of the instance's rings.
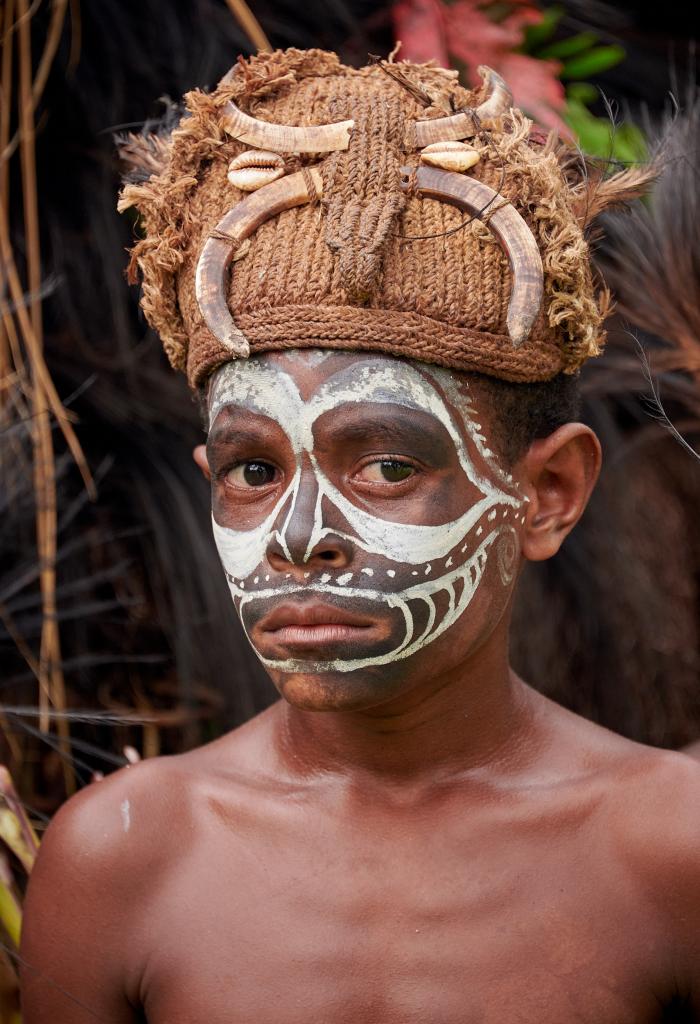
[[[114,133],[215,85],[238,53],[324,47],[361,65],[401,40],[399,59],[435,59],[466,82],[480,63],[496,69],[534,120],[613,168],[648,159],[664,137],[652,197],[590,240],[617,303],[608,352],[581,380],[606,468],[560,555],[528,566],[513,660],[543,692],[627,736],[670,748],[700,737],[694,28],[692,5],[599,0],[0,5],[0,896],[5,886],[16,909],[4,922],[10,952],[33,828],[67,796],[128,760],[205,742],[273,699],[210,536],[190,458],[198,411],[125,282],[134,224],[116,211]],[[0,1013],[15,1012],[13,984],[8,959]]]

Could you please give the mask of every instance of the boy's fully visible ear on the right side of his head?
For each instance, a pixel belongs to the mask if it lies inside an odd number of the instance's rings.
[[[530,445],[521,477],[530,499],[521,538],[529,561],[543,561],[559,551],[583,514],[601,459],[598,437],[582,423],[566,423]]]

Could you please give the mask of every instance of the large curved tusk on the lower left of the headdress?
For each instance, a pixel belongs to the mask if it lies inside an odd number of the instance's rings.
[[[233,323],[226,302],[228,268],[234,249],[270,217],[308,203],[312,198],[309,178],[320,197],[323,180],[315,167],[263,185],[222,217],[202,250],[194,282],[200,311],[212,334],[235,356],[247,357],[251,349],[245,334]]]

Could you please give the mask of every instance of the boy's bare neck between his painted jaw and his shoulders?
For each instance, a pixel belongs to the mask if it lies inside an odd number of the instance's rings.
[[[292,775],[423,786],[488,763],[511,763],[530,734],[529,690],[492,634],[458,669],[360,712],[276,706],[275,745]]]

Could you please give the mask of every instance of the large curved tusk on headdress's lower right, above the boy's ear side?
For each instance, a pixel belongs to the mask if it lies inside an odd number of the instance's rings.
[[[508,333],[515,348],[527,339],[534,324],[544,293],[542,259],[532,231],[510,203],[494,209],[499,197],[493,188],[452,171],[441,171],[422,165],[417,170],[401,168],[401,187],[407,191],[411,175],[421,196],[451,203],[485,221],[508,256],[513,272],[513,290],[508,306]],[[492,211],[492,212],[491,212]]]

